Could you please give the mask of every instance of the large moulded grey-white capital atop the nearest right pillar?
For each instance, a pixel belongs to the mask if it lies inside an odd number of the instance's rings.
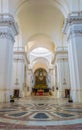
[[[67,35],[67,40],[76,36],[82,37],[82,15],[69,15],[65,20],[63,32]]]

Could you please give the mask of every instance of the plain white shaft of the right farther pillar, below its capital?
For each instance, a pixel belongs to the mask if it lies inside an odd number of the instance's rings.
[[[64,79],[66,80],[66,84],[64,83]],[[65,59],[58,61],[57,63],[57,84],[60,90],[70,89],[70,72],[69,72],[69,64],[68,60]]]

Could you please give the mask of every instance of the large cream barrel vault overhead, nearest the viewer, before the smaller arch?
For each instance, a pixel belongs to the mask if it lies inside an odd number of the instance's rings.
[[[13,6],[16,8],[15,14],[25,45],[29,38],[37,34],[47,35],[54,43],[61,44],[64,15],[54,2],[54,0],[14,0]]]

